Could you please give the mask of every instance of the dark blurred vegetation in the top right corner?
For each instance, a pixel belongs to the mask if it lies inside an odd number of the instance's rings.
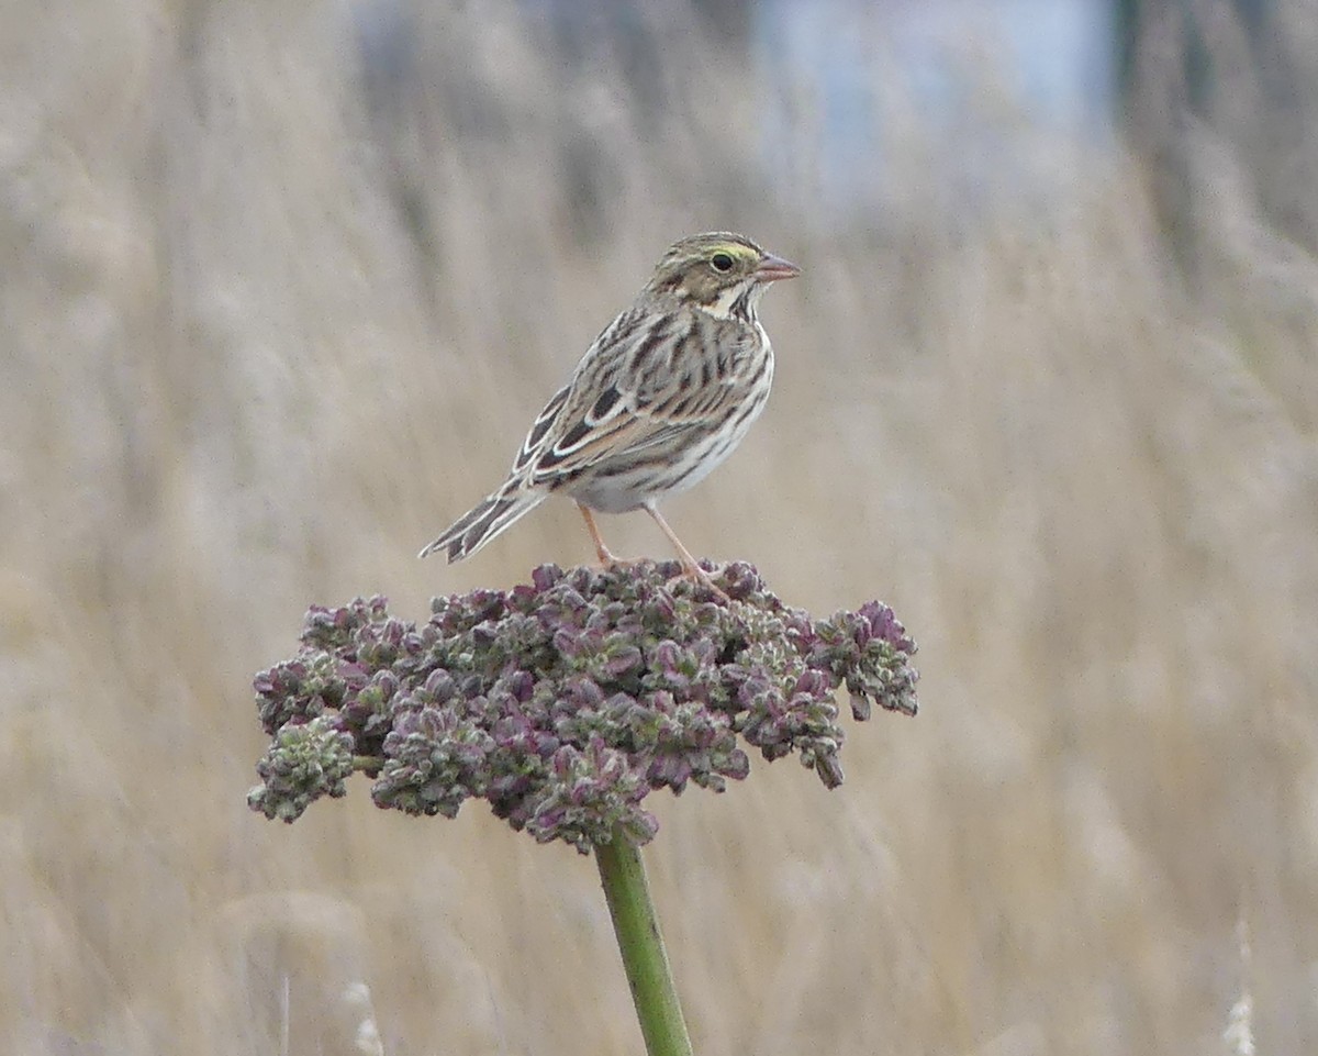
[[[1311,187],[1318,21],[1285,0],[1116,0],[1119,112],[1191,281],[1210,273],[1197,216],[1234,179],[1275,237],[1318,250]],[[1211,225],[1207,225],[1211,227]],[[1206,277],[1211,281],[1211,277]]]

